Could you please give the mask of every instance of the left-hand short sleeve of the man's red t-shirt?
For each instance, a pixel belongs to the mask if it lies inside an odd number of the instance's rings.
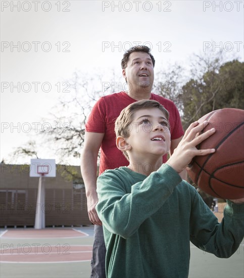
[[[86,132],[105,133],[106,131],[106,105],[103,97],[93,106],[85,124]]]

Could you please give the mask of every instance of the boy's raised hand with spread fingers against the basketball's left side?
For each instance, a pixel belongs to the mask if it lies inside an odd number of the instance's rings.
[[[208,124],[207,121],[199,124],[198,121],[193,122],[186,129],[185,134],[180,141],[173,155],[167,161],[176,172],[180,173],[191,162],[194,156],[204,156],[215,152],[215,149],[198,150],[196,148],[201,142],[214,134],[215,128],[200,134],[200,132]]]

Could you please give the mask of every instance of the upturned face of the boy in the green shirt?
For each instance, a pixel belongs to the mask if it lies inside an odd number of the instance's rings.
[[[170,149],[170,130],[165,114],[158,108],[141,109],[134,113],[130,135],[126,138],[129,156],[147,158],[161,157]]]

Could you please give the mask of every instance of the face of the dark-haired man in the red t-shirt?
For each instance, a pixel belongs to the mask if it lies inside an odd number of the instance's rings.
[[[132,52],[126,68],[123,69],[123,76],[130,90],[144,88],[146,92],[151,92],[154,82],[154,66],[151,57],[144,52]]]

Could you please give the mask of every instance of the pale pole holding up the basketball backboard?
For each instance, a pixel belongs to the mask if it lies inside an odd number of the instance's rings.
[[[37,199],[36,199],[36,210],[35,210],[35,229],[42,229],[45,227],[45,185],[42,183],[42,177],[44,174],[42,173],[39,177],[38,183],[38,191],[37,191]]]

